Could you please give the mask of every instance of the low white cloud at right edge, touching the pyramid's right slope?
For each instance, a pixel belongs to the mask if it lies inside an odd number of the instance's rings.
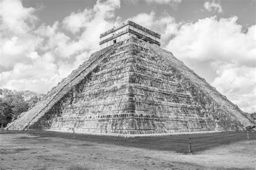
[[[217,70],[218,77],[213,86],[228,96],[242,110],[253,112],[256,110],[256,68],[246,66],[224,66]]]

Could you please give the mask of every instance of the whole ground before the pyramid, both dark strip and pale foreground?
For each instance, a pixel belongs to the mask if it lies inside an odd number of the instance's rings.
[[[255,168],[256,133],[118,138],[52,131],[0,131],[0,168]],[[188,154],[192,138],[193,154]]]

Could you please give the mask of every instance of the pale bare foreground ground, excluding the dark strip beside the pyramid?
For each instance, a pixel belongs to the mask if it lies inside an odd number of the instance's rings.
[[[27,133],[0,133],[0,168],[254,169],[255,146],[256,140],[239,141],[187,155]]]

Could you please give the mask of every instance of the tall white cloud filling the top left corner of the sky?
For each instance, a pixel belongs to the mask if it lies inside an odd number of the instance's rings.
[[[26,53],[34,51],[42,39],[31,33],[37,21],[35,9],[24,8],[20,1],[1,1],[0,9],[0,66],[9,70],[16,62],[29,62]]]

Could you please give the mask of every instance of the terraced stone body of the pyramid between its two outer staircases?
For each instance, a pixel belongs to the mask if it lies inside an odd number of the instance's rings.
[[[101,133],[239,130],[239,126],[172,63],[137,39],[107,56],[81,84],[51,129]]]

